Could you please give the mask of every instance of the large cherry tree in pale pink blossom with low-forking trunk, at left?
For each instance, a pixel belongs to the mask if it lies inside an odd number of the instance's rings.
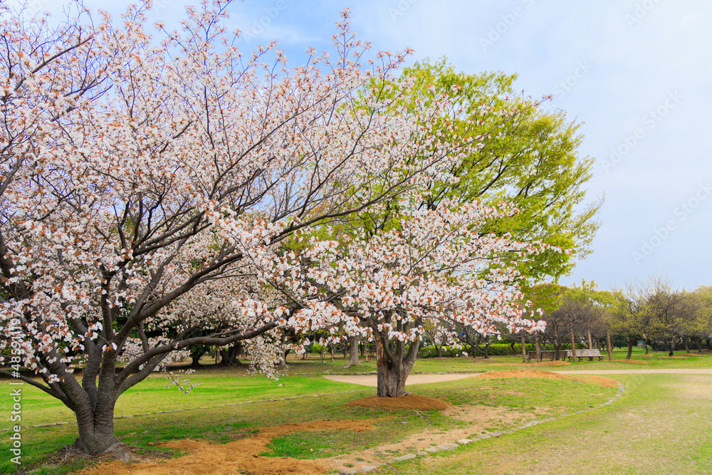
[[[448,179],[476,146],[422,126],[446,100],[397,107],[407,52],[366,62],[347,12],[334,58],[288,69],[276,44],[234,46],[229,3],[157,38],[148,2],[54,29],[0,7],[0,362],[75,413],[90,454],[119,442],[117,398],[191,345],[244,341],[269,369],[308,308],[255,287],[246,257]]]

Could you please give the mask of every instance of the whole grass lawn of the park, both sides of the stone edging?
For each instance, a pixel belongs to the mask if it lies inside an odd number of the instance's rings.
[[[634,365],[620,362],[624,350],[615,353],[614,362],[575,362],[565,367],[538,367],[538,369],[631,369],[694,368],[712,367],[712,355],[684,355],[682,359],[668,359],[666,353],[643,357],[641,351],[634,360],[645,360],[650,365]],[[682,355],[679,353],[679,355]],[[243,368],[221,369],[208,367],[191,375],[200,385],[192,394],[184,395],[175,387],[166,389],[164,375],[152,375],[117,402],[117,416],[139,415],[128,419],[116,419],[115,427],[127,444],[148,449],[148,442],[172,439],[201,438],[216,442],[229,440],[245,434],[254,427],[266,427],[286,422],[305,422],[318,419],[358,419],[395,415],[377,424],[375,432],[352,433],[302,432],[275,439],[268,452],[275,456],[314,458],[341,454],[348,451],[375,447],[379,444],[397,442],[421,431],[424,427],[442,430],[461,428],[463,422],[445,417],[439,412],[416,414],[413,411],[386,411],[345,407],[350,400],[375,394],[371,387],[325,380],[321,375],[329,372],[344,372],[341,359],[322,365],[314,355],[308,360],[290,359],[286,370],[289,375],[279,381],[263,376],[246,376]],[[534,368],[522,364],[518,357],[478,358],[432,358],[418,360],[416,372],[483,371]],[[375,370],[375,365],[361,365],[352,372]],[[712,376],[708,375],[615,375],[624,382],[624,396],[595,412],[548,422],[543,426],[508,434],[496,440],[478,442],[473,447],[457,449],[445,455],[429,457],[406,465],[384,469],[382,473],[471,473],[488,469],[490,473],[579,473],[587,454],[591,453],[598,468],[606,473],[668,473],[663,461],[672,460],[686,469],[679,473],[706,473],[695,471],[709,469],[712,458],[712,433],[708,414],[712,413]],[[9,395],[9,381],[3,380],[4,394]],[[282,386],[279,386],[282,385]],[[506,408],[521,417],[507,421],[492,422],[487,431],[511,429],[536,412],[538,418],[587,409],[607,400],[616,388],[593,387],[580,382],[562,380],[456,380],[432,385],[417,385],[409,390],[417,394],[447,400],[461,407]],[[326,393],[345,394],[325,395]],[[312,395],[320,397],[310,397]],[[562,398],[560,395],[567,397]],[[306,396],[301,399],[255,404],[239,402],[281,399]],[[70,422],[53,427],[23,429],[23,461],[36,464],[47,454],[71,444],[75,437],[73,414],[45,393],[29,385],[23,385],[22,425]],[[201,409],[204,408],[204,409]],[[4,414],[11,410],[11,398],[0,397]],[[182,409],[182,410],[179,410]],[[176,411],[161,413],[163,411]],[[3,417],[0,427],[10,427],[9,417]],[[570,434],[575,434],[581,443],[572,443]],[[666,440],[669,443],[666,443]],[[306,447],[314,451],[306,453]],[[531,456],[531,455],[534,456]],[[541,454],[541,456],[539,456]],[[463,459],[463,460],[461,460]],[[561,461],[557,465],[554,461]],[[567,466],[565,461],[577,461]],[[438,465],[441,464],[441,465]],[[456,464],[461,471],[446,469],[447,464]],[[638,465],[640,467],[638,468]],[[671,465],[670,465],[671,466]],[[400,469],[399,467],[405,467]],[[492,467],[499,467],[492,471]],[[520,467],[526,470],[519,471]],[[702,469],[700,467],[703,467]],[[13,473],[16,467],[8,461],[0,461],[0,473]],[[38,473],[60,474],[75,469],[75,465],[58,469],[43,469]],[[390,470],[390,471],[388,471]],[[401,471],[402,470],[402,471]],[[499,470],[499,471],[498,471]],[[527,471],[528,470],[528,471]],[[551,471],[549,471],[551,470]],[[660,471],[659,471],[660,470]]]

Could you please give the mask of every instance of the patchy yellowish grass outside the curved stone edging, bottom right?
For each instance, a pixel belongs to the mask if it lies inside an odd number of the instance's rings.
[[[712,473],[710,375],[616,375],[627,390],[613,404],[406,461],[379,474]]]

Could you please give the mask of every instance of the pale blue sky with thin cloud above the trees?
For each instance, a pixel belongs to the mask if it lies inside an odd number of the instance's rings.
[[[15,0],[13,0],[16,3]],[[85,0],[120,14],[128,2]],[[150,19],[177,24],[185,4],[156,0]],[[32,11],[66,2],[33,0]],[[339,12],[375,50],[411,47],[460,71],[518,73],[517,88],[585,122],[581,155],[597,158],[590,200],[605,195],[594,252],[561,283],[601,288],[664,273],[712,284],[712,2],[708,0],[246,0],[229,7],[251,51],[271,39],[298,66],[330,47]]]

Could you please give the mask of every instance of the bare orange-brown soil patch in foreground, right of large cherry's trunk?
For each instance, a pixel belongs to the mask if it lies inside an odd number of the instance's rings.
[[[365,432],[374,429],[373,422],[378,419],[357,420],[321,420],[294,422],[276,427],[261,427],[261,432],[251,434],[245,439],[227,444],[216,444],[201,440],[177,440],[159,442],[159,447],[178,449],[188,455],[149,463],[125,464],[112,461],[80,472],[80,475],[286,475],[286,474],[325,474],[331,469],[319,460],[300,460],[289,457],[260,456],[266,451],[267,444],[275,437],[290,432],[318,430],[352,430]]]

